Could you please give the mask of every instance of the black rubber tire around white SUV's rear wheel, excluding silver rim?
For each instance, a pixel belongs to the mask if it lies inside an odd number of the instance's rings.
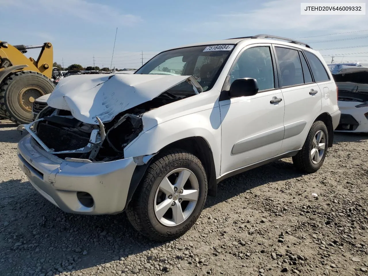
[[[313,139],[318,131],[322,131],[323,134],[325,134],[325,151],[323,152],[321,160],[317,164],[315,164],[314,162],[312,162],[311,150]],[[315,121],[312,124],[311,129],[309,130],[307,139],[305,139],[302,149],[297,153],[297,155],[293,156],[294,166],[298,170],[303,171],[305,173],[314,173],[322,166],[323,161],[325,160],[326,157],[327,148],[328,148],[327,127],[325,123],[323,123],[322,121]]]

